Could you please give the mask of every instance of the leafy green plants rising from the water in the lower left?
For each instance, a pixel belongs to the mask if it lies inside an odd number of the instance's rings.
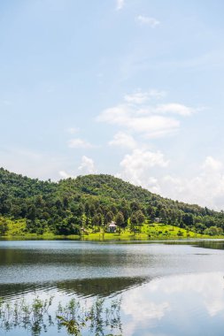
[[[111,302],[97,299],[88,307],[72,299],[64,307],[59,303],[57,311],[50,314],[52,297],[46,300],[36,297],[31,303],[24,299],[15,302],[0,299],[0,328],[9,332],[19,327],[39,336],[57,325],[58,331],[66,327],[68,334],[76,336],[81,335],[82,329],[89,330],[89,335],[104,336],[108,332],[121,335],[120,302],[120,299]]]

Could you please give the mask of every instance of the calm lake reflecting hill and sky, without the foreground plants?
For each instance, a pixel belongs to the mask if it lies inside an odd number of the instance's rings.
[[[51,309],[71,298],[87,305],[121,298],[122,331],[114,335],[223,336],[223,276],[224,241],[0,241],[0,297],[52,295]],[[8,336],[58,332],[67,334],[53,324],[37,333],[0,329]]]

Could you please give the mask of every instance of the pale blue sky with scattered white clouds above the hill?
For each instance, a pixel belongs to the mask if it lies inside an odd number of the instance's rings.
[[[224,209],[222,0],[0,2],[0,166]]]

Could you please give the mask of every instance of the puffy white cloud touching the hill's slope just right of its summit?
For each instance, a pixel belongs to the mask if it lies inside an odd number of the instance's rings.
[[[153,191],[156,192],[157,179],[151,177],[149,170],[153,167],[166,167],[167,164],[168,161],[159,151],[134,149],[120,162],[121,172],[118,176],[138,186],[155,187]]]

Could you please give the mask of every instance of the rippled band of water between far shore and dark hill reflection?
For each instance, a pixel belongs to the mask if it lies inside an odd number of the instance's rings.
[[[78,279],[153,279],[186,271],[221,271],[222,264],[221,249],[190,245],[0,241],[0,284],[11,287]]]

